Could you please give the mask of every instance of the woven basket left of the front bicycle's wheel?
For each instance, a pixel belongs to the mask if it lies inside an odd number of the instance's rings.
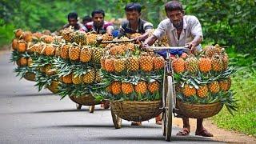
[[[162,112],[162,101],[111,101],[110,105],[114,114],[127,121],[147,121]]]

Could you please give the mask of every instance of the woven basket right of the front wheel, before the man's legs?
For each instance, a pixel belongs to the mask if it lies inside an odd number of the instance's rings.
[[[182,115],[187,118],[209,118],[218,114],[222,110],[223,104],[221,102],[214,102],[210,104],[190,104],[187,102],[177,101],[177,107]]]

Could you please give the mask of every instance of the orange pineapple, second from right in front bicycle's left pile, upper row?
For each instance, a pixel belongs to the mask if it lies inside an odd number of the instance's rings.
[[[139,58],[139,66],[145,72],[153,70],[153,58],[148,54],[142,54]]]

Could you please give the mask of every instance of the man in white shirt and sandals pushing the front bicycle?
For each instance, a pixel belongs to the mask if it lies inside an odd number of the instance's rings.
[[[202,50],[202,26],[198,18],[191,15],[184,15],[182,4],[177,1],[167,2],[165,5],[167,19],[160,22],[154,33],[147,38],[144,46],[151,46],[157,39],[166,34],[170,46],[188,46],[191,51]],[[175,51],[175,50],[174,50]],[[182,118],[183,129],[177,135],[184,136],[190,134],[189,118]],[[202,126],[202,118],[197,119],[196,135],[212,137]]]

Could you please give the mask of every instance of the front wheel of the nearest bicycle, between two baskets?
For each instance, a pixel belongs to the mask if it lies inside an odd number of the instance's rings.
[[[173,79],[171,76],[167,77],[167,93],[166,93],[166,141],[170,141],[171,138],[171,130],[172,130],[172,114],[173,114],[173,97],[174,97],[174,85]]]

